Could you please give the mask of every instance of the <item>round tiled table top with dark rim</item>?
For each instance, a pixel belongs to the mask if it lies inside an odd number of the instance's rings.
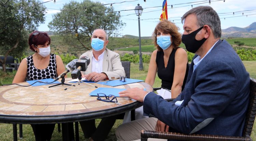
[[[65,83],[68,83],[66,79]],[[20,83],[28,85],[27,82]],[[68,83],[73,84],[73,83]],[[112,87],[90,83],[98,87]],[[97,100],[89,93],[96,88],[85,83],[76,84],[67,90],[67,85],[48,88],[50,85],[21,87],[0,86],[0,122],[2,123],[60,123],[84,119],[96,119],[116,115],[135,109],[142,103],[128,97],[117,97],[117,105]],[[152,92],[152,86],[144,82],[115,86],[114,88],[145,88]]]

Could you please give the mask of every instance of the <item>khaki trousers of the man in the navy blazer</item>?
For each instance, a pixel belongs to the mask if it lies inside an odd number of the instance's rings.
[[[121,124],[116,129],[117,141],[140,141],[141,130],[155,131],[157,118],[144,118]],[[166,139],[148,139],[148,141],[167,141]]]

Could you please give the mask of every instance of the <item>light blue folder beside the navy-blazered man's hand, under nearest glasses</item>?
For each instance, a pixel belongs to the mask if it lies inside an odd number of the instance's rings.
[[[103,93],[106,96],[113,95],[113,96],[119,97],[118,93],[123,91],[123,90],[125,90],[125,89],[124,88],[103,88],[103,87],[100,87],[100,88],[95,89],[89,95],[90,96],[98,96],[97,95],[98,93]]]

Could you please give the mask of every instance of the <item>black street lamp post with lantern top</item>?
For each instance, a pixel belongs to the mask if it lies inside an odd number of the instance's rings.
[[[139,50],[140,50],[140,61],[139,61],[139,70],[143,71],[143,63],[142,63],[142,54],[141,54],[141,38],[140,38],[140,16],[142,14],[142,6],[138,3],[138,6],[135,7],[135,13],[138,16],[139,21]]]

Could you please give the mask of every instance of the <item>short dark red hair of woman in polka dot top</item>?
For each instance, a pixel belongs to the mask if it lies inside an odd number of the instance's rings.
[[[38,46],[38,45],[45,44],[47,41],[49,42],[49,44],[51,44],[51,38],[45,32],[34,31],[29,34],[28,44],[29,44],[29,48],[33,52],[34,52],[34,49],[32,47],[32,44]]]

